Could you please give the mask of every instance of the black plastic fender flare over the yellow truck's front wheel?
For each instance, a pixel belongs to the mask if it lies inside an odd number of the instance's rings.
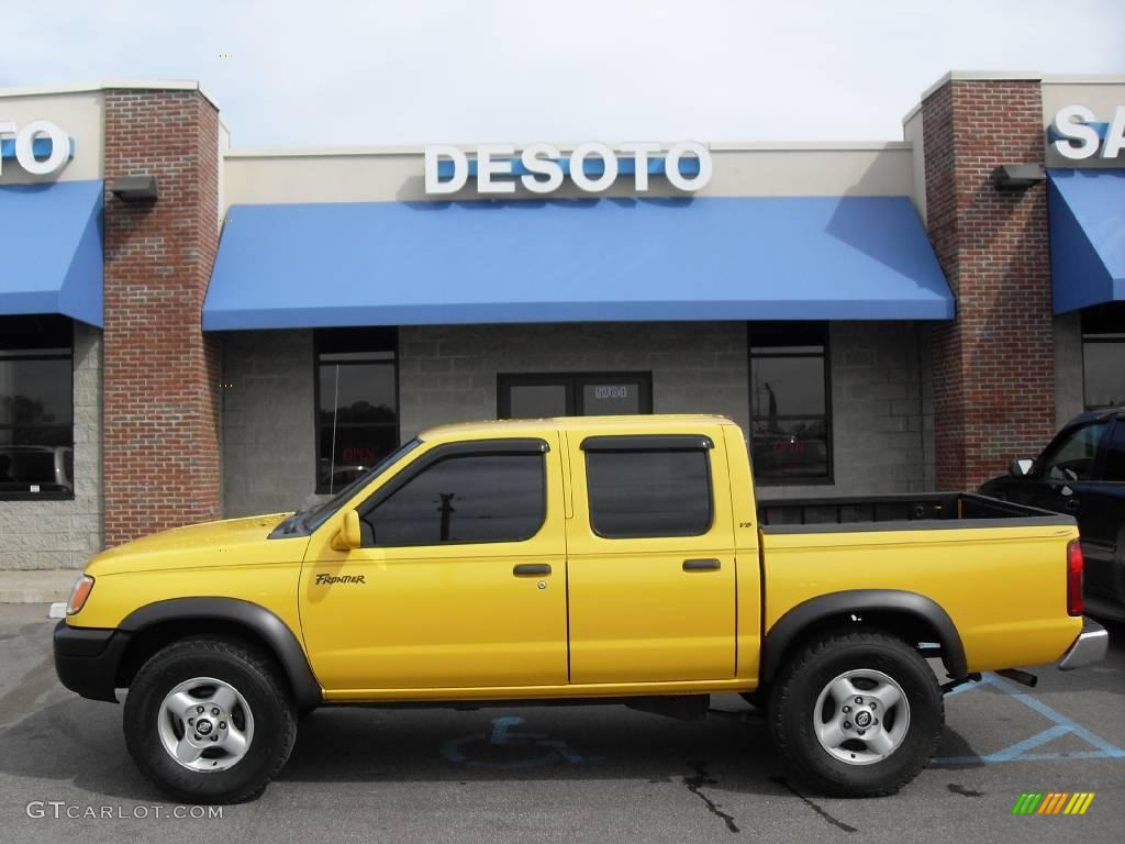
[[[171,598],[134,610],[117,629],[132,638],[168,621],[228,621],[256,634],[270,648],[289,680],[299,709],[324,702],[305,650],[289,626],[264,607],[237,598]]]

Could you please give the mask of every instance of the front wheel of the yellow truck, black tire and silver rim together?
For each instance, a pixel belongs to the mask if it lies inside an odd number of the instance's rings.
[[[296,709],[272,662],[209,637],[174,643],[142,666],[123,726],[137,766],[184,802],[256,796],[297,737]]]

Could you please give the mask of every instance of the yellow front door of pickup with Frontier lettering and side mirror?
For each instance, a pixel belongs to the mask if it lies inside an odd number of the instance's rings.
[[[556,432],[435,445],[359,504],[361,547],[317,530],[300,618],[330,698],[564,685],[566,547]]]

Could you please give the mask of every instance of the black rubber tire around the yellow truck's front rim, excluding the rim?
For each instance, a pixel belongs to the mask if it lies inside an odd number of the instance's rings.
[[[125,699],[125,746],[137,767],[173,798],[189,803],[234,803],[264,790],[289,758],[297,738],[292,695],[267,655],[222,638],[182,639],[154,654]],[[194,771],[164,748],[158,721],[164,697],[179,683],[214,677],[230,683],[253,712],[245,755],[223,771]]]

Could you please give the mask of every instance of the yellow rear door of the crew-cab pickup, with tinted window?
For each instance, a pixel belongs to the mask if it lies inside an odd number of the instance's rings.
[[[721,431],[566,438],[570,682],[732,677],[736,575]]]

